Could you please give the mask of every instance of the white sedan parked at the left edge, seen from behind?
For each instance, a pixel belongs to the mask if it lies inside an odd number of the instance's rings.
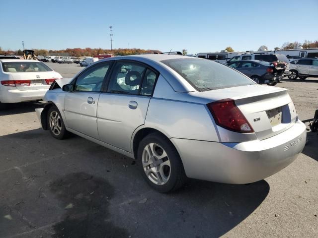
[[[38,60],[0,60],[0,109],[8,103],[43,99],[59,78],[61,74]]]

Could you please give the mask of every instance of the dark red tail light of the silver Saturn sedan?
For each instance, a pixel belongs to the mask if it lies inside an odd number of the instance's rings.
[[[251,125],[236,106],[233,99],[224,99],[207,104],[217,125],[241,133],[253,132]]]

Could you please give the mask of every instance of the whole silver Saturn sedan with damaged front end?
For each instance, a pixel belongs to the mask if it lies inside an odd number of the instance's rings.
[[[138,161],[160,192],[186,178],[250,183],[292,163],[306,142],[286,89],[226,65],[173,55],[99,60],[56,80],[37,109],[43,129],[72,132]]]

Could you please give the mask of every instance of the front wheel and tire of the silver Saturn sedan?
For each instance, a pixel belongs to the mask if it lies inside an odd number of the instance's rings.
[[[66,130],[61,113],[56,106],[52,106],[47,114],[47,123],[51,135],[59,140],[65,139],[69,132]]]

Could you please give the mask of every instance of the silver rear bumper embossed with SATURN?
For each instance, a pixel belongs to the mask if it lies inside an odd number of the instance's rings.
[[[244,184],[265,179],[291,164],[306,143],[306,126],[297,121],[265,140],[221,143],[172,138],[189,178]]]

